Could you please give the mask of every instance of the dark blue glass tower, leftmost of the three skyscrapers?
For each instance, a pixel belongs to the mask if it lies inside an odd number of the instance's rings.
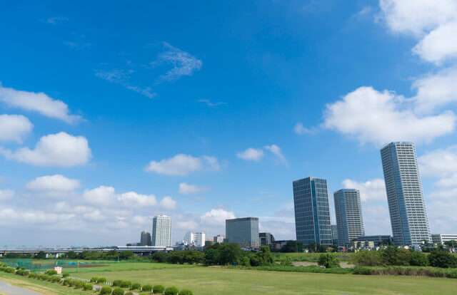
[[[293,207],[297,242],[333,244],[327,180],[307,177],[293,182]]]

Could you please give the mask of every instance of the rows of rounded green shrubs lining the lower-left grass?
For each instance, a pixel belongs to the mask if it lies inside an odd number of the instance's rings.
[[[67,279],[66,277],[69,276],[68,273],[62,274],[64,279],[61,279],[60,276],[55,276],[56,271],[54,270],[49,270],[46,271],[45,274],[35,274],[33,272],[26,271],[25,269],[17,268],[13,269],[11,267],[6,267],[3,265],[0,265],[0,271],[5,271],[11,274],[17,274],[19,276],[28,276],[31,279],[39,279],[41,281],[49,281],[51,283],[58,283],[62,284],[63,286],[69,286],[73,287],[74,289],[82,289],[84,291],[91,291],[94,289],[94,285],[90,283],[86,283],[84,281],[78,281],[74,279]],[[101,277],[101,278],[96,278],[93,277],[91,278],[91,283],[98,283],[98,284],[104,284],[106,282],[106,278]],[[152,286],[151,284],[145,284],[141,286],[139,283],[132,283],[131,281],[123,281],[120,279],[116,279],[113,281],[113,287],[111,286],[102,286],[100,289],[100,294],[102,295],[133,295],[131,291],[125,292],[123,288],[128,288],[131,290],[140,290],[144,292],[149,292],[151,291],[154,294],[164,294],[164,295],[193,295],[191,290],[188,289],[182,289],[179,291],[178,288],[175,286],[171,286],[168,288],[165,288],[163,285],[155,285]]]

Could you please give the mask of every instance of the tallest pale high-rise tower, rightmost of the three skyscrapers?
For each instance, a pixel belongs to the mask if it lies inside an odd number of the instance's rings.
[[[393,242],[417,245],[424,239],[431,241],[414,144],[389,143],[381,149],[381,159]]]

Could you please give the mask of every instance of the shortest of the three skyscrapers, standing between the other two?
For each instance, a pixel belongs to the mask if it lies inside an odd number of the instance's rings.
[[[348,246],[353,239],[365,235],[358,190],[343,189],[333,193],[335,200],[338,246]],[[333,237],[335,238],[335,237]]]

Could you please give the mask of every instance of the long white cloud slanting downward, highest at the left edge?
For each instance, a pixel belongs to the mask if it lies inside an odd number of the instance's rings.
[[[70,115],[69,107],[61,100],[50,98],[45,93],[35,93],[13,88],[6,88],[0,84],[0,101],[6,105],[24,110],[33,110],[50,118],[74,123],[81,120],[79,115]]]

